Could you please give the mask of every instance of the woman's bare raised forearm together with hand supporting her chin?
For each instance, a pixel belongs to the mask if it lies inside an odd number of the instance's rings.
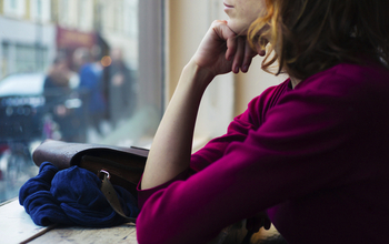
[[[227,21],[212,23],[181,73],[156,133],[141,189],[166,183],[189,166],[196,116],[206,88],[218,74],[247,72],[256,54],[246,39],[227,27]]]

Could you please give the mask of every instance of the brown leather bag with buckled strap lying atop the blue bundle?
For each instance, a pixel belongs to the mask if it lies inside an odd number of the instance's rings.
[[[50,162],[59,170],[78,165],[98,176],[103,176],[101,191],[112,209],[134,222],[134,218],[129,218],[123,214],[112,184],[120,185],[136,195],[137,184],[143,173],[148,154],[148,150],[139,148],[48,140],[34,150],[32,159],[37,166],[43,162]]]

